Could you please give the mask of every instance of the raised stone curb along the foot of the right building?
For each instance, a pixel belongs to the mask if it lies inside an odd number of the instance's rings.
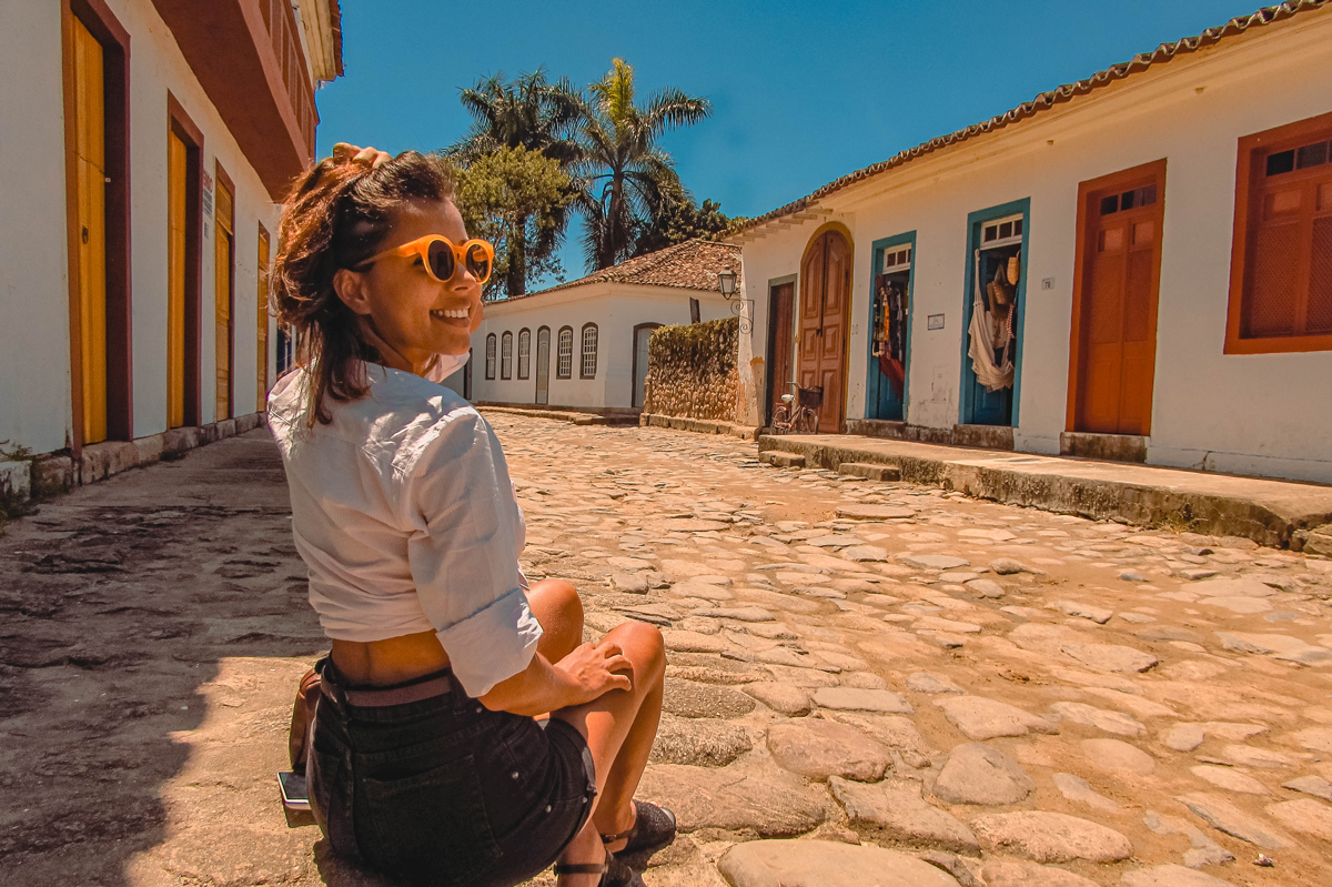
[[[878,441],[874,444],[890,444]],[[1187,515],[1188,529],[1209,535],[1236,535],[1259,545],[1285,547],[1303,542],[1311,534],[1303,527],[1317,527],[1332,521],[1332,489],[1325,505],[1313,511],[1280,510],[1256,499],[1225,493],[1175,489],[1164,483],[1128,482],[1112,478],[1087,478],[1031,469],[1016,470],[995,465],[978,465],[967,459],[967,450],[958,450],[956,459],[926,458],[907,453],[883,453],[859,449],[850,441],[844,445],[801,441],[785,436],[763,434],[758,438],[759,458],[763,453],[779,450],[799,454],[810,467],[838,470],[844,462],[895,465],[907,483],[926,483],[956,490],[982,499],[1007,505],[1038,507],[1046,511],[1076,514],[1098,521],[1120,519],[1139,526],[1171,525]],[[978,458],[987,454],[971,451]],[[988,455],[1000,455],[998,453]],[[1002,454],[1011,458],[1011,454]],[[769,457],[770,459],[771,457]],[[769,461],[763,459],[763,461]],[[1173,471],[1132,466],[1138,471]],[[1272,481],[1272,483],[1281,483]],[[1307,489],[1305,483],[1291,483],[1293,489]],[[1323,510],[1325,509],[1325,510]]]

